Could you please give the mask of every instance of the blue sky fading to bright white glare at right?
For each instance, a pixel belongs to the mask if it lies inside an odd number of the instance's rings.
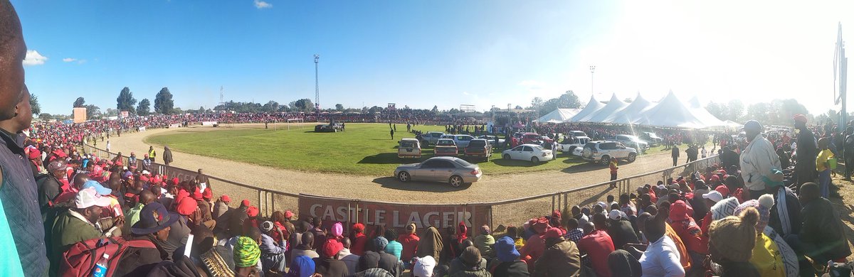
[[[485,110],[570,89],[586,102],[595,65],[603,101],[672,89],[704,102],[797,98],[824,113],[839,21],[854,42],[845,1],[12,3],[38,52],[26,83],[44,113],[70,113],[78,96],[114,108],[125,86],[151,101],[168,87],[194,109],[215,106],[220,86],[226,101],[313,99],[314,54],[322,107]]]

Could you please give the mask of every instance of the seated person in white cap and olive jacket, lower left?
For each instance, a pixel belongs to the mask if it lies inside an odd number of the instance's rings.
[[[56,223],[50,232],[51,272],[59,271],[62,253],[68,251],[72,245],[89,239],[113,236],[112,231],[124,224],[118,222],[116,224],[118,226],[106,232],[102,230],[101,223],[98,221],[101,219],[101,210],[109,204],[110,199],[98,195],[94,188],[87,188],[77,193],[74,206],[56,218]]]

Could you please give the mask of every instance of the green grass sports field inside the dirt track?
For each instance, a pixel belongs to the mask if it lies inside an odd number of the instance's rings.
[[[167,145],[173,151],[291,170],[337,172],[388,176],[398,164],[417,162],[397,158],[397,144],[407,133],[406,124],[397,124],[395,139],[389,124],[347,124],[347,131],[315,133],[314,124],[303,129],[229,129],[197,131],[181,129],[149,136],[146,143]],[[444,126],[418,125],[414,130],[444,131]],[[421,160],[433,157],[432,147],[423,147]],[[462,157],[462,156],[460,156]],[[475,161],[472,161],[475,162]],[[536,170],[561,170],[583,160],[560,153],[558,159],[541,164],[500,159],[493,153],[488,162],[478,162],[484,174],[506,174]]]

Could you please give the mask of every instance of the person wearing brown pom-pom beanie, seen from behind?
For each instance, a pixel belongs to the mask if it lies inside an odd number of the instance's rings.
[[[714,209],[714,207],[712,207]],[[709,255],[720,265],[722,277],[760,276],[750,263],[756,245],[756,224],[759,212],[748,207],[740,216],[727,216],[711,222],[709,227]]]

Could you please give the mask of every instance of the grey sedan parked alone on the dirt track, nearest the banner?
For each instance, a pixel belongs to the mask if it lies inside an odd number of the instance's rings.
[[[401,164],[395,169],[395,177],[401,182],[422,180],[448,182],[457,188],[465,183],[477,182],[483,171],[477,164],[456,157],[433,157],[418,164]]]

